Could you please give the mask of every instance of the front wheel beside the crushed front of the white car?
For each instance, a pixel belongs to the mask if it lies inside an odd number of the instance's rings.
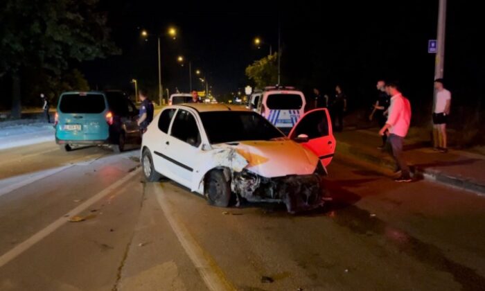
[[[231,201],[231,182],[222,170],[212,170],[204,181],[204,195],[209,205],[227,207]]]

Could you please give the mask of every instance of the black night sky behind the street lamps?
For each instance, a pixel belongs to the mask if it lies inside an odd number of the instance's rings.
[[[323,2],[323,1],[322,1]],[[378,78],[399,80],[415,103],[432,98],[434,55],[428,39],[436,38],[438,1],[291,1],[279,6],[233,2],[223,7],[209,2],[104,1],[112,37],[123,54],[87,62],[80,69],[91,87],[130,89],[136,78],[141,87],[157,88],[156,39],[144,42],[140,28],[164,33],[175,25],[175,41],[162,37],[162,82],[170,92],[188,90],[188,68],[177,55],[209,76],[215,95],[247,85],[245,67],[267,54],[252,44],[255,36],[277,47],[279,19],[283,43],[283,84],[308,93],[312,87],[333,93],[342,84],[355,107],[373,98]],[[482,98],[485,62],[477,37],[484,25],[479,10],[460,1],[448,1],[445,77],[464,105]],[[194,86],[200,86],[193,78]],[[157,92],[153,92],[157,96]]]

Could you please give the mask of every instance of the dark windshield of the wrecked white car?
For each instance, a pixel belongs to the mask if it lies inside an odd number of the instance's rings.
[[[255,112],[202,112],[202,124],[209,142],[269,141],[285,135]]]

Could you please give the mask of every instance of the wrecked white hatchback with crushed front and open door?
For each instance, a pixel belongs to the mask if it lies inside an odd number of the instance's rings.
[[[287,137],[263,116],[233,105],[164,108],[143,134],[148,182],[165,176],[211,205],[283,202],[288,211],[325,201],[322,177],[335,151],[326,109],[305,114]]]

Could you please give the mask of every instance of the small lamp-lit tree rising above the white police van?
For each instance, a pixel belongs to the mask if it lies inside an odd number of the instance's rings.
[[[257,88],[276,85],[278,82],[278,53],[256,60],[246,68],[246,76]]]

